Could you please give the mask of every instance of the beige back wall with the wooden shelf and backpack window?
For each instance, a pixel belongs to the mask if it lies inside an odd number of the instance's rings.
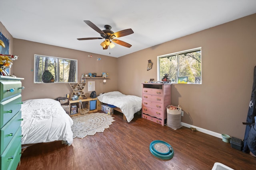
[[[102,72],[108,72],[110,78],[107,79],[106,83],[103,83],[103,79],[86,79],[86,82],[95,81],[97,94],[117,89],[117,59],[114,57],[96,55],[22,39],[14,39],[14,53],[19,55],[19,58],[14,63],[13,72],[15,76],[24,78],[22,85],[25,89],[22,91],[22,100],[58,98],[64,97],[65,94],[71,95],[72,92],[68,83],[34,84],[34,71],[32,70],[34,69],[34,54],[77,59],[78,82],[81,82],[79,77],[83,73],[96,72],[97,75],[101,75]],[[92,57],[88,57],[88,55],[92,55]],[[101,60],[97,61],[97,58],[101,58]],[[84,92],[86,96],[90,96],[91,92],[88,92],[88,86],[86,86]]]

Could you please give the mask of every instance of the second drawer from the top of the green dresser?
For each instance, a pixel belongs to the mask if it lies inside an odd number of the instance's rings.
[[[20,111],[21,104],[21,95],[0,103],[0,128]]]

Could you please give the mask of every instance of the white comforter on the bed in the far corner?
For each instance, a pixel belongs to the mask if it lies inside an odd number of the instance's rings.
[[[134,118],[134,113],[140,111],[142,107],[142,98],[125,95],[118,91],[104,93],[97,98],[102,103],[119,107],[128,122]]]

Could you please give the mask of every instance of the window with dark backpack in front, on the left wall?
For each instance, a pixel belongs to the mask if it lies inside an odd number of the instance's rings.
[[[77,82],[77,60],[34,55],[34,83]]]

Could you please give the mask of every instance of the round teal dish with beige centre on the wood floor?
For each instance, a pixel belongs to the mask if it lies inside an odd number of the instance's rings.
[[[160,159],[170,159],[174,155],[172,146],[164,141],[152,141],[149,150],[154,156]]]

